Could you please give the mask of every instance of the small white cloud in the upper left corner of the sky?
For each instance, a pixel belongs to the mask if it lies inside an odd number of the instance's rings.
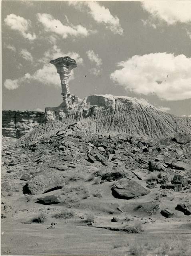
[[[15,14],[9,14],[4,19],[4,22],[7,26],[9,26],[12,30],[17,30],[22,34],[22,36],[28,40],[36,39],[36,34],[30,34],[28,30],[31,27],[31,21],[26,20],[23,17],[17,16]]]

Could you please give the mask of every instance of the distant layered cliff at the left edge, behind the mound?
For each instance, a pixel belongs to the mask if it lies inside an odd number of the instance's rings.
[[[39,111],[2,111],[2,135],[12,138],[20,138],[43,119],[44,112]]]

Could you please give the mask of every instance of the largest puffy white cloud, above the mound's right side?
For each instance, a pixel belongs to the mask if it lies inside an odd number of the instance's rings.
[[[135,55],[118,63],[110,78],[137,94],[155,94],[165,100],[191,98],[191,58],[181,54]]]

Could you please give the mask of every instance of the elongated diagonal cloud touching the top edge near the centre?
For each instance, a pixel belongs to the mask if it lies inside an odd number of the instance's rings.
[[[123,28],[119,23],[119,18],[117,16],[113,16],[109,9],[105,8],[104,6],[100,6],[98,2],[94,1],[84,1],[84,2],[76,2],[71,1],[69,2],[70,5],[75,6],[81,11],[84,11],[86,7],[88,13],[92,16],[92,18],[97,23],[105,24],[106,28],[111,30],[114,34],[123,34]]]

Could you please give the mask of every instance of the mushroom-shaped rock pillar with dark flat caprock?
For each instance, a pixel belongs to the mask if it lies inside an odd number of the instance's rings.
[[[72,99],[68,83],[71,70],[77,67],[76,60],[66,56],[51,60],[50,63],[56,66],[57,73],[60,75],[64,105],[69,108],[72,104]]]

